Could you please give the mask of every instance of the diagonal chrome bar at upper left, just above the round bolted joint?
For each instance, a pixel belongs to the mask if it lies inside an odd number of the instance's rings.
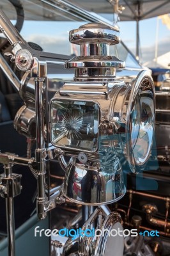
[[[17,43],[27,44],[2,10],[0,10],[0,29],[11,45],[15,46]]]

